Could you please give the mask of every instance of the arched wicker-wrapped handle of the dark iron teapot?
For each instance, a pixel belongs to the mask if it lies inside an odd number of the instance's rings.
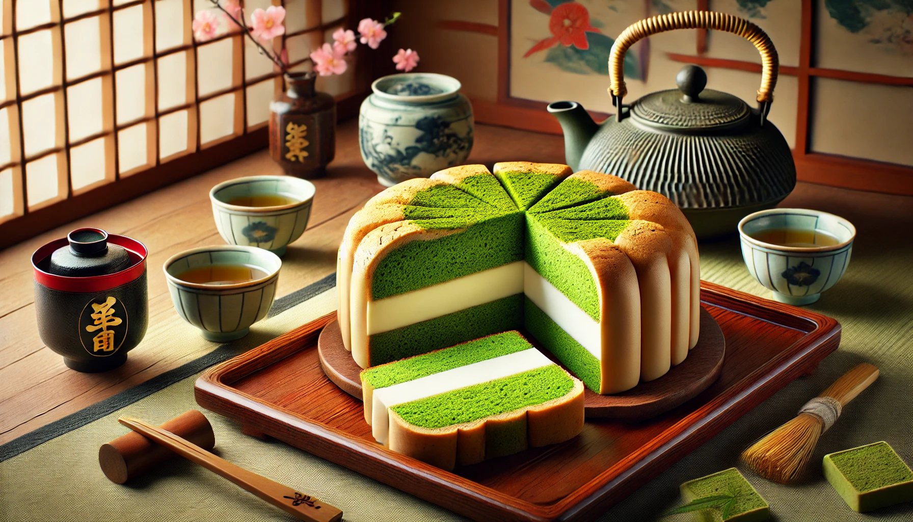
[[[683,11],[652,16],[624,29],[615,40],[612,53],[609,55],[609,74],[612,78],[609,93],[613,98],[618,99],[616,106],[620,105],[621,99],[627,93],[627,88],[624,86],[624,54],[627,53],[628,48],[641,38],[673,29],[727,31],[744,37],[754,44],[754,47],[758,48],[758,52],[761,53],[761,89],[758,90],[758,101],[761,101],[767,106],[767,110],[770,110],[770,104],[773,101],[773,87],[777,84],[777,70],[780,67],[777,49],[773,47],[771,38],[761,27],[744,18],[712,11]]]

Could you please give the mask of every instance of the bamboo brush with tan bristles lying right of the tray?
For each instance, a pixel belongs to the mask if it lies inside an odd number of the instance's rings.
[[[802,474],[815,444],[840,411],[878,378],[878,368],[862,363],[834,381],[819,397],[809,400],[798,416],[771,431],[741,454],[742,462],[762,477],[790,484]]]

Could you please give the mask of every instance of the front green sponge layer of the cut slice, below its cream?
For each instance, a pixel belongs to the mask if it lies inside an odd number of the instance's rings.
[[[391,410],[410,424],[435,429],[558,399],[572,388],[571,376],[551,365],[406,402]]]

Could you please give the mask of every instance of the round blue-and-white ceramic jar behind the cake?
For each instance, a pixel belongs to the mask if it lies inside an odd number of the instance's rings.
[[[362,159],[383,186],[462,165],[472,150],[472,105],[443,74],[384,76],[362,102]]]

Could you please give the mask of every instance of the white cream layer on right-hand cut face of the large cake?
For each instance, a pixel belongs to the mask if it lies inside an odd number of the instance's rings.
[[[599,322],[593,321],[593,317],[573,304],[526,261],[523,264],[523,293],[593,357],[603,360],[603,330]]]

